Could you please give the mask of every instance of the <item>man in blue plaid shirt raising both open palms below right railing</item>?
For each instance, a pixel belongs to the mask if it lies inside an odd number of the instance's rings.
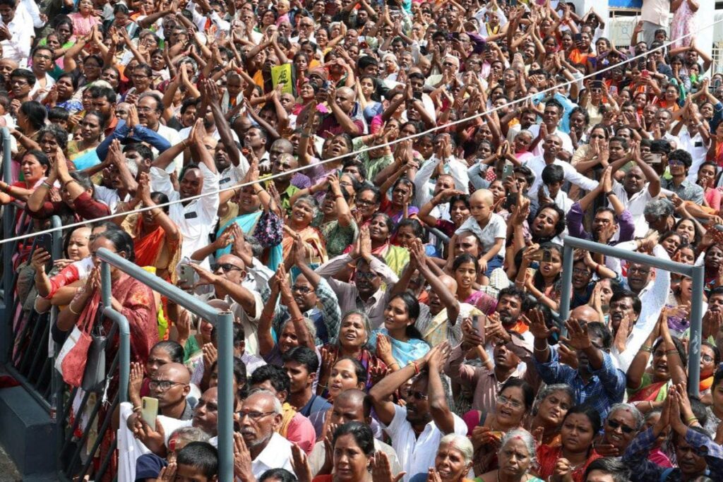
[[[562,363],[560,348],[547,343],[549,336],[558,331],[557,327],[548,328],[541,311],[529,312],[530,332],[535,337],[535,366],[543,382],[570,385],[576,393],[576,403],[589,403],[604,418],[612,405],[623,401],[625,372],[615,367],[608,353],[612,345],[610,330],[601,322],[580,322],[573,318],[575,314],[573,310],[565,322],[568,337],[562,337],[561,341],[577,352],[577,369]],[[591,310],[589,319],[596,317]]]

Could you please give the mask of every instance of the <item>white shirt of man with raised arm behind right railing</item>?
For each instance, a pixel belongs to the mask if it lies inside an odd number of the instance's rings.
[[[631,241],[617,245],[618,248],[623,249],[632,246],[634,246],[634,244]],[[668,252],[659,244],[656,244],[653,248],[653,256],[661,259],[670,259]],[[656,270],[656,268],[651,267],[651,270]],[[620,272],[619,267],[617,272]],[[656,270],[654,279],[638,293],[638,298],[640,298],[642,305],[640,316],[638,317],[638,322],[633,326],[633,331],[628,335],[627,343],[625,343],[625,351],[619,353],[615,345],[613,345],[612,350],[610,350],[610,356],[613,361],[617,363],[619,369],[627,372],[628,368],[630,368],[630,363],[633,363],[633,358],[635,358],[638,350],[643,346],[643,343],[648,339],[650,332],[653,331],[653,327],[658,322],[660,311],[667,301],[669,290],[670,272]]]

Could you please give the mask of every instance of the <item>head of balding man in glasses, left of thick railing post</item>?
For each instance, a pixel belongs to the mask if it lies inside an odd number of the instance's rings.
[[[179,420],[191,420],[193,406],[186,397],[191,390],[191,374],[181,363],[166,363],[150,380],[150,396],[158,399],[158,413]],[[195,405],[195,404],[194,404]]]

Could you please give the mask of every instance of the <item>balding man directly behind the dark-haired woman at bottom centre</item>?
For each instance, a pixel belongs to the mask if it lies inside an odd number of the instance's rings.
[[[348,422],[367,423],[367,425],[372,426],[373,430],[372,424],[378,422],[372,420],[372,405],[365,403],[366,400],[367,394],[361,390],[344,390],[334,399],[334,405],[329,416],[329,423],[335,426],[340,426]],[[379,439],[374,439],[374,449],[375,451],[384,452],[387,455],[393,474],[402,471],[397,458],[397,452],[395,452],[391,445],[385,444]],[[324,440],[322,439],[315,444],[311,455],[309,455],[309,466],[312,469],[312,475],[319,473],[324,465],[325,456],[326,449],[324,447]]]

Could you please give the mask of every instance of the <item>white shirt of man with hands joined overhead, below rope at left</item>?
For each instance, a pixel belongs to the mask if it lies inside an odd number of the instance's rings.
[[[181,257],[190,258],[194,251],[207,246],[208,236],[218,220],[218,174],[211,172],[204,163],[200,164],[199,169],[203,178],[202,197],[194,199],[185,206],[181,202],[168,206],[168,215],[179,227],[183,236]],[[150,168],[150,185],[151,190],[166,194],[169,201],[181,199],[181,194],[171,184],[167,170]],[[208,269],[208,258],[203,260],[201,266]]]

